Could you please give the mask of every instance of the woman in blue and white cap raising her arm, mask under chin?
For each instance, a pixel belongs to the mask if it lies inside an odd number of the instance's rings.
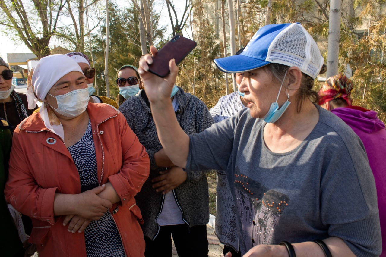
[[[157,50],[152,47],[153,55]],[[161,144],[187,170],[227,172],[244,256],[378,256],[377,196],[361,140],[320,108],[314,79],[323,67],[317,44],[298,23],[259,29],[244,51],[214,60],[247,86],[246,109],[186,135],[169,100],[178,68],[138,69]],[[291,244],[292,243],[292,244]],[[229,255],[230,256],[230,255]]]

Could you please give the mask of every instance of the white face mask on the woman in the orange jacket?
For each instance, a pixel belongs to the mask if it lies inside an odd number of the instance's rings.
[[[58,103],[58,108],[54,110],[69,118],[77,117],[83,113],[86,110],[88,100],[90,99],[87,88],[74,90],[64,95],[51,96],[55,97],[56,102]]]

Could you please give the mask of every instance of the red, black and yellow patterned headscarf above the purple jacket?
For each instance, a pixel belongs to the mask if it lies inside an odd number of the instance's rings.
[[[347,78],[342,73],[332,76],[326,80],[319,90],[319,105],[337,98],[342,98],[346,100],[347,104],[350,106],[352,103],[352,98],[350,97],[351,91],[351,79]]]

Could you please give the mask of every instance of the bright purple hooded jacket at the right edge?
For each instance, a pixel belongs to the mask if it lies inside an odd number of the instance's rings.
[[[362,140],[369,158],[377,187],[379,219],[382,233],[382,254],[386,257],[386,130],[377,113],[362,107],[335,108],[331,111],[341,118]]]

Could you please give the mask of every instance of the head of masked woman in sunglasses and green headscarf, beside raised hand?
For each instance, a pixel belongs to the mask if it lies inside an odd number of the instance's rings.
[[[117,72],[117,85],[119,94],[116,101],[118,106],[120,106],[127,98],[137,95],[138,91],[143,88],[137,67],[127,64],[119,68]]]

